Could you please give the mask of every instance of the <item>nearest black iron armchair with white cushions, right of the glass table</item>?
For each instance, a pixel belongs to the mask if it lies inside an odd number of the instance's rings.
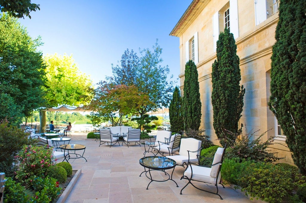
[[[215,153],[212,164],[209,166],[201,166],[200,164],[188,162],[188,166],[184,172],[184,175],[181,177],[181,180],[186,179],[188,180],[188,183],[181,189],[180,194],[182,194],[184,188],[190,183],[196,189],[216,194],[220,197],[220,199],[222,199],[221,195],[218,194],[218,183],[221,184],[223,188],[225,188],[224,185],[221,183],[221,172],[220,172],[225,150],[226,146],[225,148],[219,147]],[[197,157],[198,157],[198,163],[200,163],[200,156],[198,155]],[[192,181],[215,184],[215,186],[217,187],[217,192],[211,192],[201,189],[195,186],[192,183]]]

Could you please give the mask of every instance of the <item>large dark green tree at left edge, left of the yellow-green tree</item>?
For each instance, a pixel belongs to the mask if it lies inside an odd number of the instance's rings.
[[[32,39],[16,18],[0,18],[0,102],[3,119],[16,123],[28,117],[44,102],[41,87],[45,79],[42,54],[36,51],[40,38]],[[4,96],[5,95],[5,96]],[[6,98],[6,99],[4,99]],[[16,108],[14,108],[16,107]],[[12,108],[12,109],[9,109]],[[17,116],[17,117],[16,117]],[[10,120],[11,121],[11,120]]]

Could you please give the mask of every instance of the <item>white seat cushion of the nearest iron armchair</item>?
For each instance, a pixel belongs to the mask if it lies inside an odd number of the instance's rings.
[[[202,167],[202,166],[195,166],[192,165],[192,180],[203,181],[206,183],[215,184],[216,178],[211,177],[211,168]],[[191,178],[191,168],[190,166],[184,172],[184,176],[187,176],[189,179]],[[221,173],[218,176],[218,182],[221,180]]]

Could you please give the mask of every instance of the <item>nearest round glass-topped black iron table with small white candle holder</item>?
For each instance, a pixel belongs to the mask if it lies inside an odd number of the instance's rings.
[[[155,161],[155,159],[157,159],[158,161]],[[140,173],[140,176],[141,174],[145,173],[147,178],[151,180],[150,183],[152,183],[153,181],[165,182],[167,180],[172,180],[176,184],[176,187],[178,187],[177,183],[172,179],[174,167],[176,166],[176,162],[173,159],[162,156],[146,156],[139,160],[139,164],[144,167],[144,172]],[[171,176],[165,171],[166,169],[173,169]],[[165,173],[165,175],[167,175],[168,177],[164,180],[154,180],[151,175],[152,171],[161,171]],[[149,173],[149,176],[147,173]],[[147,190],[150,183],[147,186]]]

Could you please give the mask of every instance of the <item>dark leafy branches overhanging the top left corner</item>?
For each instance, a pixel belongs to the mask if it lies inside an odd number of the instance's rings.
[[[0,0],[1,12],[8,12],[10,16],[31,19],[30,12],[40,10],[39,4],[32,4],[31,0]]]

